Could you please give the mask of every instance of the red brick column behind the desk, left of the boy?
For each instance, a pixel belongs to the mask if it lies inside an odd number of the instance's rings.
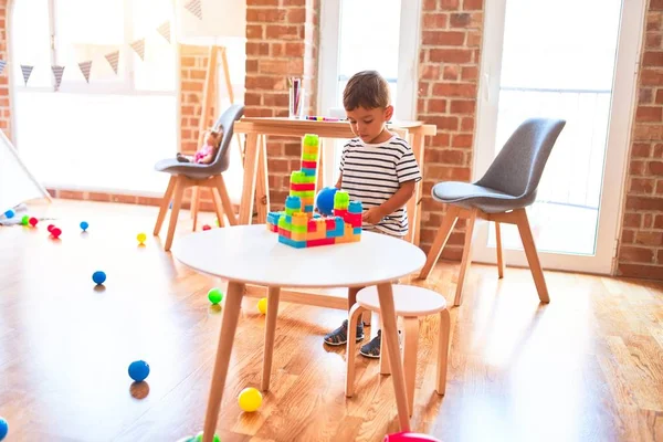
[[[246,1],[245,116],[287,116],[287,78],[302,77],[307,113],[316,108],[319,0]],[[285,201],[290,173],[299,167],[301,140],[270,136],[271,202]]]

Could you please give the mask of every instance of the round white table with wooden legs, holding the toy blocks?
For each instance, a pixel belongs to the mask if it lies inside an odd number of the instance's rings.
[[[267,286],[262,388],[270,387],[281,287],[364,287],[377,285],[383,337],[402,431],[410,430],[403,366],[398,344],[391,282],[419,271],[425,254],[410,242],[362,232],[361,241],[293,249],[277,242],[264,224],[234,225],[189,234],[172,251],[183,264],[229,281],[219,346],[204,421],[204,442],[217,427],[228,365],[245,284]]]

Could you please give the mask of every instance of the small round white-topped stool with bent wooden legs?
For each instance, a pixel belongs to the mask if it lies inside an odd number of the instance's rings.
[[[406,372],[406,390],[408,392],[408,407],[410,415],[414,407],[414,380],[417,377],[417,347],[419,344],[419,317],[435,313],[440,314],[440,334],[438,336],[438,379],[435,391],[438,394],[444,394],[446,387],[446,359],[449,356],[449,330],[450,317],[446,309],[446,299],[444,296],[428,288],[414,285],[396,284],[393,290],[393,306],[396,315],[401,316],[404,323],[404,345],[403,345],[403,370]],[[357,323],[365,309],[380,312],[380,302],[378,299],[377,287],[366,287],[357,294],[357,303],[350,308],[350,318],[348,320],[348,330],[355,330]],[[382,332],[383,333],[383,332]],[[348,332],[352,337],[354,332]],[[380,341],[380,373],[389,375],[389,361],[386,348],[382,348]],[[355,391],[355,358],[357,354],[357,343],[355,339],[348,339],[347,354],[347,377],[346,396],[351,397]]]

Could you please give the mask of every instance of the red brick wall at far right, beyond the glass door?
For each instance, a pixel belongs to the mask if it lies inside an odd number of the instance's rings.
[[[663,280],[663,1],[650,0],[618,274]]]

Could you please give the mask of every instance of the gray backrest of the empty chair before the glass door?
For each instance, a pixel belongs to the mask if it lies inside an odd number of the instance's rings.
[[[532,196],[564,126],[564,119],[526,119],[476,183],[514,197]]]

